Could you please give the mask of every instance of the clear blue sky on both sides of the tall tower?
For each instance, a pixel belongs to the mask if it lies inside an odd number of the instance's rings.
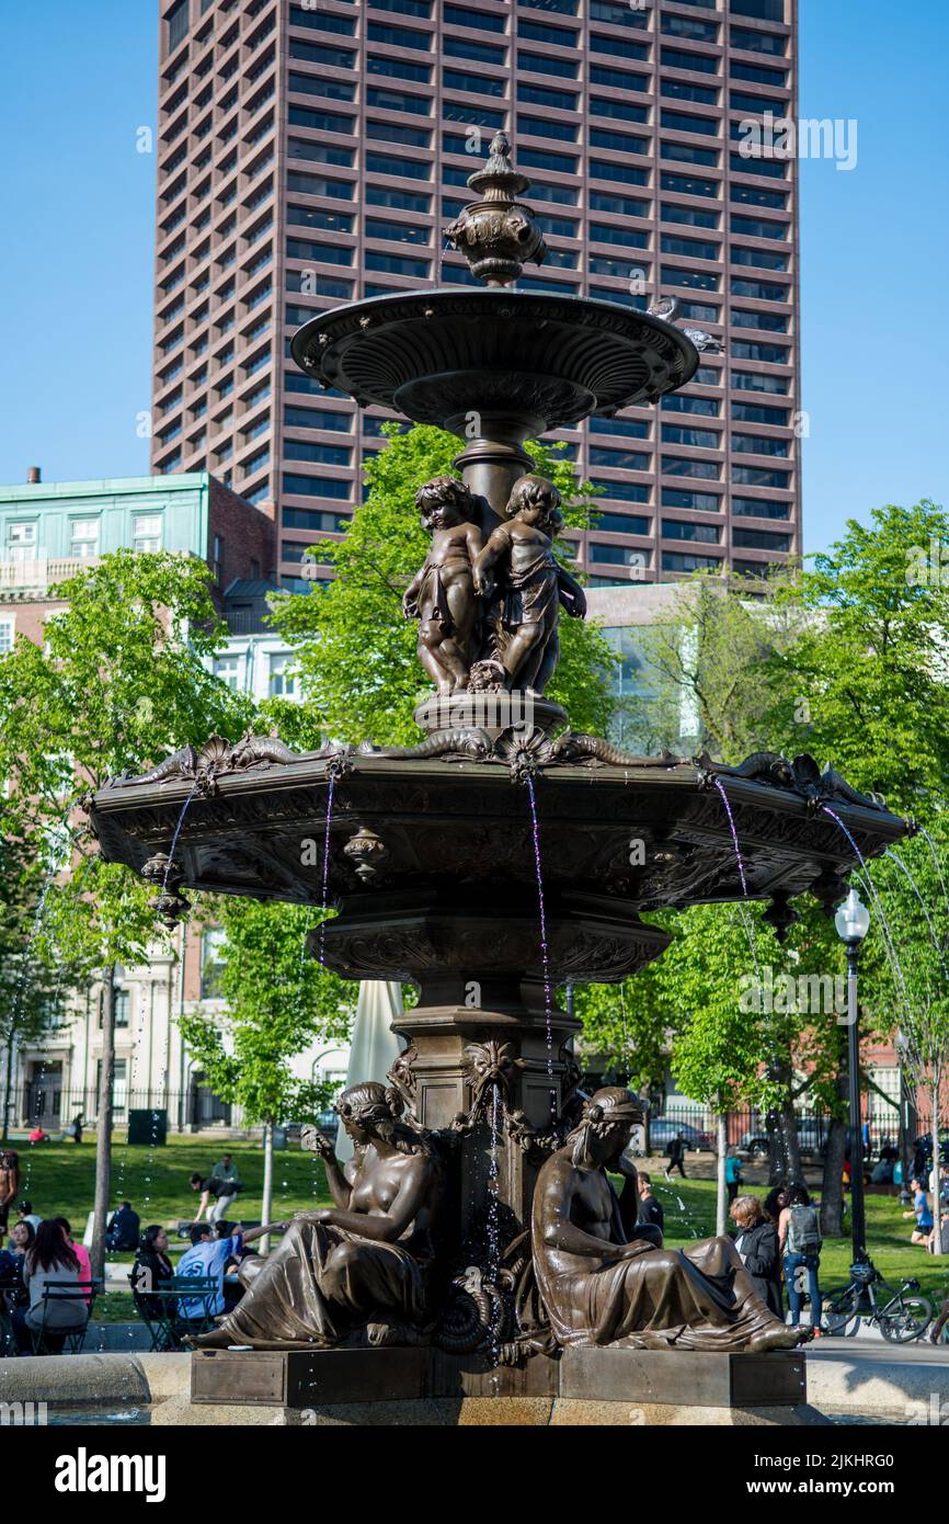
[[[154,0],[0,0],[0,482],[137,475],[149,405]],[[801,166],[804,549],[949,501],[944,0],[801,0],[801,114],[858,163]]]

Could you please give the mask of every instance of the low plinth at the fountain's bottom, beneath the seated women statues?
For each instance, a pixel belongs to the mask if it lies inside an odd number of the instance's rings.
[[[568,1349],[522,1367],[431,1347],[195,1350],[195,1405],[280,1408],[288,1422],[490,1425],[800,1425],[800,1350],[719,1355]]]

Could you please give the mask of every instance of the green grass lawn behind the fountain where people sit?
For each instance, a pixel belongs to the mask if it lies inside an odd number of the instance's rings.
[[[66,1216],[76,1237],[82,1236],[87,1213],[93,1205],[96,1166],[94,1141],[43,1143],[35,1148],[17,1145],[21,1164],[21,1196],[34,1204],[40,1216]],[[259,1143],[222,1143],[207,1138],[172,1135],[165,1148],[129,1148],[116,1143],[113,1151],[113,1204],[128,1199],[149,1222],[175,1224],[193,1215],[198,1195],[187,1177],[192,1170],[207,1173],[227,1149],[235,1157],[244,1190],[238,1196],[238,1216],[260,1219],[264,1186],[264,1154]],[[762,1187],[751,1187],[763,1195]],[[667,1183],[653,1172],[653,1190],[666,1212],[666,1242],[684,1245],[714,1233],[714,1181],[684,1180]],[[681,1205],[679,1205],[681,1202]],[[274,1157],[274,1221],[314,1205],[331,1205],[323,1164],[314,1154],[303,1154],[297,1143],[279,1149]],[[867,1196],[867,1247],[877,1269],[894,1286],[902,1277],[915,1276],[925,1292],[941,1301],[949,1295],[946,1276],[949,1257],[935,1259],[909,1244],[911,1221],[900,1216],[896,1196]],[[172,1237],[172,1253],[187,1245]],[[128,1260],[129,1254],[110,1259]],[[842,1286],[848,1280],[850,1239],[829,1239],[821,1254],[821,1288]],[[943,1268],[944,1266],[944,1268]],[[96,1305],[96,1315],[105,1318],[134,1317],[131,1298],[110,1294]]]

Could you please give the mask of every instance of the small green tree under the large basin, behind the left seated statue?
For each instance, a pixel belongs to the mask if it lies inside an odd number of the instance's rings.
[[[264,1125],[262,1221],[270,1222],[274,1126],[308,1120],[332,1099],[331,1085],[300,1079],[291,1061],[315,1038],[349,1041],[355,986],[306,956],[318,914],[305,907],[219,898],[213,913],[225,933],[225,1012],[183,1015],[178,1026],[216,1094]]]

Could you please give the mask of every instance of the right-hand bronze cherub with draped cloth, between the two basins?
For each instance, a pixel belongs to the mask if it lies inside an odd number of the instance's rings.
[[[504,668],[507,687],[539,696],[561,654],[558,605],[582,619],[586,599],[580,584],[553,553],[553,536],[564,527],[561,494],[553,482],[539,475],[521,477],[504,515],[507,523],[494,530],[475,559],[474,587],[484,599],[498,590],[489,622],[494,654]]]

